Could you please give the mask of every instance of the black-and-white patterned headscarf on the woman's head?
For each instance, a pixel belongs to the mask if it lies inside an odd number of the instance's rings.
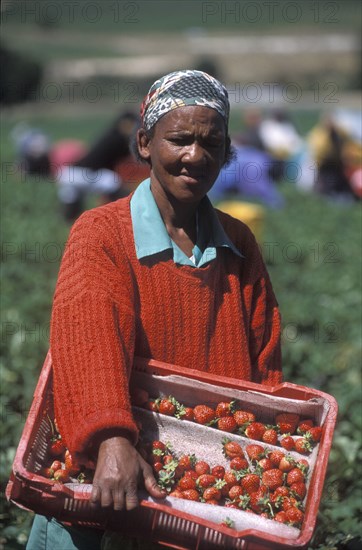
[[[169,111],[188,105],[215,109],[228,126],[230,105],[226,88],[207,73],[184,70],[169,73],[152,84],[141,105],[143,127],[150,130]]]

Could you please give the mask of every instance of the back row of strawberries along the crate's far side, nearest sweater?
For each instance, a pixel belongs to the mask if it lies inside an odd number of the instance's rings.
[[[215,408],[205,404],[186,407],[173,396],[152,399],[145,390],[136,388],[132,392],[132,403],[153,412],[243,435],[268,445],[281,445],[288,451],[302,454],[309,454],[322,436],[322,428],[315,426],[311,418],[301,419],[296,413],[284,412],[276,414],[274,424],[269,425],[260,422],[252,412],[243,410],[236,400],[222,401]]]

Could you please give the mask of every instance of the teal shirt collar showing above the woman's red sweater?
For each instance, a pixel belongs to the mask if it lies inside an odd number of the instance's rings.
[[[175,263],[202,267],[216,258],[219,247],[230,248],[242,258],[243,255],[225,233],[208,197],[201,201],[197,212],[197,240],[192,250],[195,260],[193,262],[167,233],[151,192],[150,179],[144,180],[131,198],[131,218],[137,258],[140,260],[171,250]]]

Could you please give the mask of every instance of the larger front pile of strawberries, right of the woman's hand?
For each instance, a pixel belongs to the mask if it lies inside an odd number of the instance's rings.
[[[303,458],[297,461],[257,443],[247,445],[245,455],[239,443],[228,438],[223,440],[228,469],[211,467],[193,454],[177,458],[170,444],[159,440],[148,445],[147,453],[169,496],[244,510],[298,528],[303,522],[309,468]]]

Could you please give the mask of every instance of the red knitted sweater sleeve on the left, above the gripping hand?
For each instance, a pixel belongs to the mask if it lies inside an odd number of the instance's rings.
[[[96,210],[81,216],[71,231],[54,295],[55,414],[78,458],[87,455],[101,431],[126,430],[134,441],[138,435],[128,391],[134,290],[115,227]]]

